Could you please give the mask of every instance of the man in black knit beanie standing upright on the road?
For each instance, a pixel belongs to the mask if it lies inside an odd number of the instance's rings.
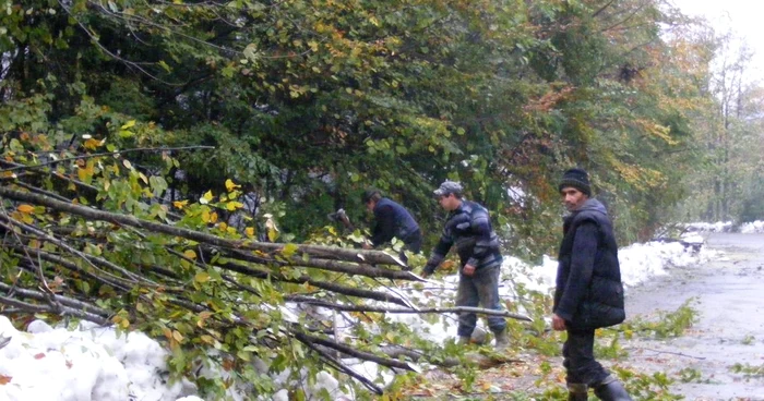
[[[562,354],[569,400],[585,401],[589,388],[600,400],[631,400],[621,382],[594,359],[595,329],[625,318],[612,223],[605,206],[590,197],[586,171],[565,171],[559,190],[570,215],[563,223],[552,328],[568,331]]]

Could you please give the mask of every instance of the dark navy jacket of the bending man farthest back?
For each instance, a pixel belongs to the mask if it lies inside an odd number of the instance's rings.
[[[421,236],[419,224],[414,220],[411,214],[399,204],[383,197],[374,206],[374,230],[371,243],[374,246],[382,245],[396,236],[407,245],[418,241]],[[413,250],[419,252],[419,250]]]

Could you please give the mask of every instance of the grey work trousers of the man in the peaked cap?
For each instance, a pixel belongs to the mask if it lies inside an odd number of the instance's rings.
[[[456,290],[456,306],[477,307],[482,304],[487,309],[501,311],[501,300],[499,300],[499,265],[481,267],[475,270],[473,276],[464,276],[459,269],[458,289]],[[477,315],[474,313],[462,313],[458,315],[458,337],[470,337],[477,325]],[[506,327],[506,319],[502,316],[488,316],[488,327],[491,331],[501,331]]]

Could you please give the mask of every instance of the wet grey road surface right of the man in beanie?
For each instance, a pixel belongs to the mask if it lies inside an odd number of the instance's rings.
[[[735,373],[736,363],[764,365],[764,235],[711,234],[707,246],[724,252],[721,260],[673,269],[626,294],[630,315],[676,311],[696,299],[699,323],[669,340],[634,340],[628,364],[667,372],[685,400],[764,400],[764,378]]]

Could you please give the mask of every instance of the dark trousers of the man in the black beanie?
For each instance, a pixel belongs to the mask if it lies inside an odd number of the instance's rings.
[[[562,345],[569,384],[582,384],[596,387],[610,374],[599,362],[594,360],[594,329],[568,330],[568,340]]]

